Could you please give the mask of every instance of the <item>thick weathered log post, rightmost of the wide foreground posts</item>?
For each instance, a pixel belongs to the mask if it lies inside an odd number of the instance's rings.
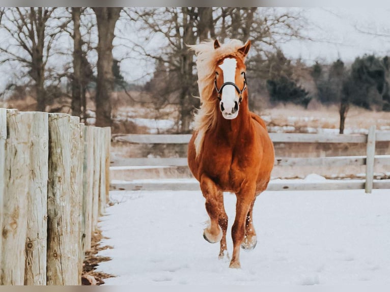
[[[70,115],[49,113],[49,179],[47,188],[47,285],[77,285],[71,247]],[[77,259],[77,256],[76,256]],[[77,265],[77,260],[76,260]],[[77,274],[77,273],[76,273]]]

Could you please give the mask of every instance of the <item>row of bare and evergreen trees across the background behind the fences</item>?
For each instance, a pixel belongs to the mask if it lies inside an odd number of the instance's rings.
[[[113,126],[116,92],[123,91],[131,102],[156,109],[175,105],[177,131],[189,133],[200,100],[194,98],[196,56],[187,45],[234,38],[252,42],[246,61],[252,109],[308,107],[316,100],[339,104],[341,123],[350,104],[390,110],[387,57],[365,55],[349,65],[291,61],[278,44],[301,38],[302,27],[305,19],[288,8],[3,7],[0,66],[13,69],[5,69],[8,84],[0,97],[33,97],[37,111],[58,111],[67,102],[67,112],[87,123],[93,110],[96,125],[105,127]],[[115,48],[121,49],[113,54]],[[137,85],[126,82],[124,69],[142,71],[140,64],[154,65],[154,72]],[[149,81],[140,85],[143,80]],[[147,98],[134,99],[134,91]]]

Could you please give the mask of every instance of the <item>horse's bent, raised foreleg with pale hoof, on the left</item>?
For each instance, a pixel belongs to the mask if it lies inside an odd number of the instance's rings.
[[[206,198],[206,211],[210,217],[210,225],[204,229],[203,237],[210,243],[216,243],[221,240],[223,235],[218,224],[221,192],[217,189],[215,183],[205,175],[201,177],[200,183],[203,196]]]

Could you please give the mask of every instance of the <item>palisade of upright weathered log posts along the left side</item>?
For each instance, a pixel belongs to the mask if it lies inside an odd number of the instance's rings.
[[[110,128],[0,108],[0,284],[80,285],[109,187]]]

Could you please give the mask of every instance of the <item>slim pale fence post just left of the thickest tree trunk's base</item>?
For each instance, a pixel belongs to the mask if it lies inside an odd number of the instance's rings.
[[[92,237],[92,198],[94,181],[94,127],[85,127],[84,141],[84,162],[82,181],[82,214],[83,214],[83,251],[91,249]]]

